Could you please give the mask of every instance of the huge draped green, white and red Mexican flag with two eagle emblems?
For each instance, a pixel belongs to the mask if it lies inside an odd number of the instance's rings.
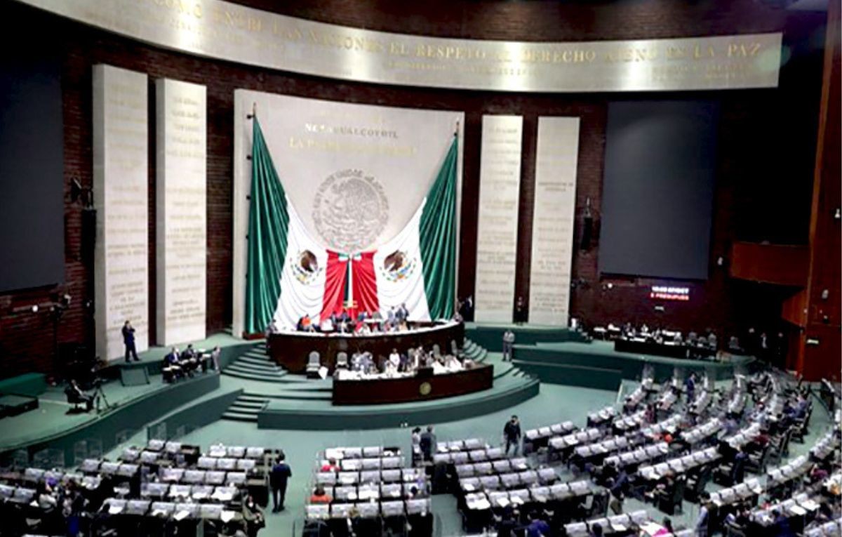
[[[296,327],[349,306],[386,311],[405,304],[413,321],[450,318],[456,303],[457,139],[413,217],[374,251],[334,252],[313,240],[284,192],[253,118],[245,331],[274,318]]]

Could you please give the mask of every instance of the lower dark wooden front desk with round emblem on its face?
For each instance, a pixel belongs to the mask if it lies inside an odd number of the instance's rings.
[[[377,405],[428,401],[488,390],[494,381],[494,366],[477,364],[471,369],[439,375],[394,378],[333,380],[334,405]]]

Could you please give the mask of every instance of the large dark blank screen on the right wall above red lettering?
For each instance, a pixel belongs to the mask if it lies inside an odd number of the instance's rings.
[[[600,272],[706,279],[718,106],[611,103]]]

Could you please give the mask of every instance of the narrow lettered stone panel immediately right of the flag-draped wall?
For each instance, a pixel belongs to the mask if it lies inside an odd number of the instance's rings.
[[[483,115],[477,216],[477,322],[511,322],[523,116]]]

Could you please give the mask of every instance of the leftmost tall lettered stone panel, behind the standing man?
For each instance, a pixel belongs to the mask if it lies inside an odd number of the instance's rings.
[[[100,359],[123,356],[131,320],[138,352],[149,346],[147,75],[93,66],[95,324]]]

